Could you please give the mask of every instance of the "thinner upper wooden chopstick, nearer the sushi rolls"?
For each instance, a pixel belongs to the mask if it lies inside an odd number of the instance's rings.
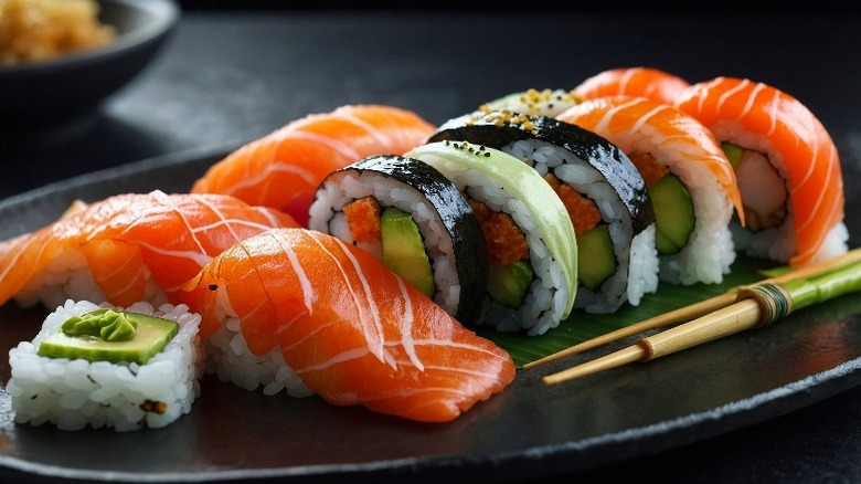
[[[849,264],[853,264],[855,262],[861,262],[861,248],[853,249],[836,257],[819,261],[774,277],[765,278],[755,284],[783,283],[791,278],[807,277],[822,272],[837,270],[847,266]],[[720,294],[718,296],[710,297],[699,303],[680,307],[679,309],[663,313],[658,316],[641,320],[639,323],[635,323],[630,326],[626,326],[624,328],[616,329],[605,335],[588,339],[586,341],[571,346],[563,350],[556,351],[552,355],[545,356],[534,361],[527,362],[523,365],[523,368],[532,368],[532,367],[548,364],[550,361],[555,361],[557,359],[576,355],[578,353],[583,353],[593,348],[597,348],[608,343],[613,343],[621,338],[626,338],[628,336],[638,335],[651,329],[658,329],[658,328],[689,322],[691,319],[694,319],[697,317],[703,316],[705,314],[712,313],[722,307],[726,307],[733,304],[738,298],[738,291],[743,287],[746,286],[733,287],[732,290],[727,291],[724,294]]]

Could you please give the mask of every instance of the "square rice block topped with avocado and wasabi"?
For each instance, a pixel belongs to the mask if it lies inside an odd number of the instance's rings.
[[[15,422],[117,432],[169,425],[200,394],[200,316],[188,306],[67,301],[9,351]]]

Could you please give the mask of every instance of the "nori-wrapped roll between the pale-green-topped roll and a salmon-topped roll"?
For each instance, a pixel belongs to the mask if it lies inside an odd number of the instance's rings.
[[[613,313],[657,291],[652,206],[642,177],[616,146],[554,118],[508,112],[451,119],[431,139],[499,149],[546,180],[576,232],[575,307]]]

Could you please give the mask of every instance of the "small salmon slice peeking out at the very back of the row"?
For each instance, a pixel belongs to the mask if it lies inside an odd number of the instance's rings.
[[[588,77],[572,92],[583,99],[626,95],[672,103],[689,86],[688,81],[655,67],[618,67]]]

